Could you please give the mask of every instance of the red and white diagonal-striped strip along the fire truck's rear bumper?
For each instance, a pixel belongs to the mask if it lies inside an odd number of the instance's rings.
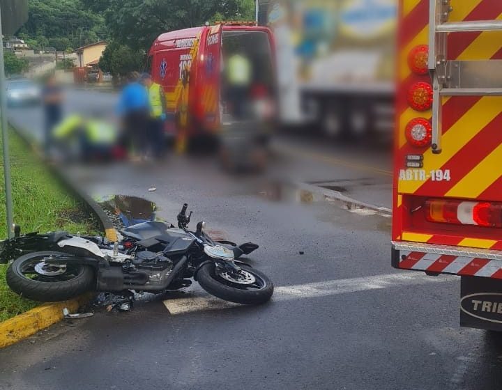
[[[502,260],[488,258],[401,251],[399,267],[402,270],[502,279]]]

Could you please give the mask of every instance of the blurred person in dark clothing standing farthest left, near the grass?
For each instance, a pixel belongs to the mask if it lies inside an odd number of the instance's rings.
[[[47,79],[42,90],[42,99],[45,114],[44,150],[48,156],[52,145],[52,129],[63,118],[63,91],[54,77]]]

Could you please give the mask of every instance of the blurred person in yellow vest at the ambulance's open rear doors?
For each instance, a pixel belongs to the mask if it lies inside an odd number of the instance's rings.
[[[227,61],[227,91],[232,114],[242,119],[248,108],[250,85],[252,83],[252,63],[240,51],[232,54]]]

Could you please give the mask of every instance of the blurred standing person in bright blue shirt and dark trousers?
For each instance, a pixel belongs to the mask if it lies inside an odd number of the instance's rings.
[[[130,72],[128,84],[121,93],[117,112],[121,117],[126,142],[136,158],[146,155],[147,132],[149,125],[149,95],[139,82],[139,74]]]

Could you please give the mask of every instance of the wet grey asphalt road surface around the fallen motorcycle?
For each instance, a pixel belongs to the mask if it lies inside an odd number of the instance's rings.
[[[34,128],[30,115],[19,118]],[[259,243],[250,263],[271,276],[275,297],[238,307],[195,286],[61,322],[0,350],[0,389],[500,389],[502,338],[458,326],[459,280],[393,270],[390,219],[291,184],[347,180],[345,194],[386,205],[388,178],[367,164],[377,157],[280,140],[261,177],[188,157],[73,169],[96,197],[148,198],[169,221],[187,202],[213,234]],[[375,181],[359,188],[355,178]]]

